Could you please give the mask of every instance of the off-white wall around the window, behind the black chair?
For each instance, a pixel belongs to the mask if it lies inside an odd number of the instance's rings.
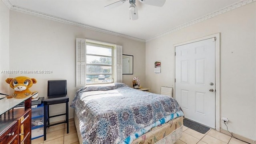
[[[145,84],[145,43],[63,24],[20,12],[10,11],[10,70],[52,70],[52,74],[16,74],[36,78],[31,91],[47,96],[47,80],[66,79],[70,102],[76,93],[76,38],[88,38],[123,46],[123,54],[134,56],[134,75],[124,75],[123,82],[131,85],[139,76]],[[52,108],[52,109],[51,109]],[[50,107],[51,114],[64,112],[64,104]],[[69,118],[73,118],[69,109]],[[64,119],[64,117],[62,118]],[[60,120],[52,118],[52,121]]]

